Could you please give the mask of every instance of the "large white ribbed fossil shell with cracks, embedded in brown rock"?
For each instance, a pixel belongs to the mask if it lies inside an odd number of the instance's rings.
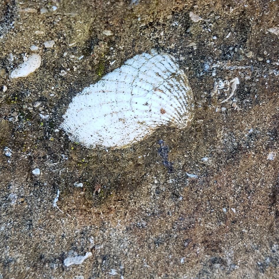
[[[76,95],[61,127],[87,147],[122,148],[161,125],[184,128],[192,91],[173,57],[151,50],[127,60]]]

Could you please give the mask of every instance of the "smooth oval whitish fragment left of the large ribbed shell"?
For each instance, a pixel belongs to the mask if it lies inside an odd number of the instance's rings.
[[[28,60],[20,64],[16,69],[11,72],[11,78],[27,77],[29,74],[37,70],[41,66],[41,56],[38,54],[32,54],[28,57]]]

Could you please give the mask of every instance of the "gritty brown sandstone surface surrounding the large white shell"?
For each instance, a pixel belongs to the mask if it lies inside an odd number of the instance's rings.
[[[131,2],[0,0],[0,278],[278,278],[277,1]],[[153,48],[188,76],[189,126],[69,141],[73,96]]]

